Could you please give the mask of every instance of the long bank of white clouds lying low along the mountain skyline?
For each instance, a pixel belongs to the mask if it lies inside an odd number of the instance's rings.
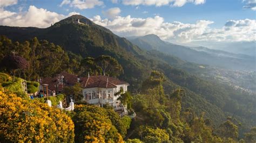
[[[213,23],[199,20],[193,24],[165,22],[163,17],[133,18],[118,16],[119,8],[109,9],[111,19],[95,16],[91,20],[105,26],[121,36],[157,34],[161,39],[186,43],[191,41],[255,41],[256,20],[229,20],[221,28],[211,28]],[[68,16],[79,14],[70,12]],[[28,11],[11,12],[0,8],[0,25],[48,27],[68,16],[48,11],[36,6],[29,6]]]

